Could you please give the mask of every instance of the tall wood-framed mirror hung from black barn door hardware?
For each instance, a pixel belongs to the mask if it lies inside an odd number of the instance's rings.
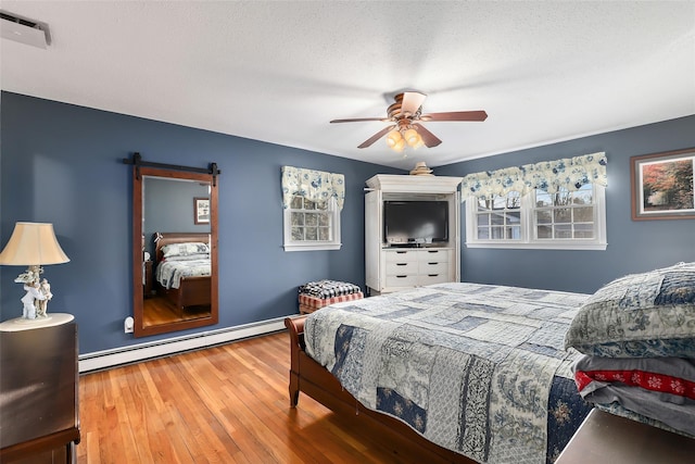
[[[216,165],[131,164],[135,336],[217,324]]]

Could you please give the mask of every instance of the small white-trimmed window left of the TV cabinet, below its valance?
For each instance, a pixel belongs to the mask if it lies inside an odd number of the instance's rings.
[[[339,250],[340,213],[334,199],[294,196],[285,210],[285,250]]]

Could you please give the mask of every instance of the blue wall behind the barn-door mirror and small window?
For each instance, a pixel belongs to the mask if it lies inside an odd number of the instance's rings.
[[[149,162],[216,162],[222,171],[219,324],[205,330],[296,313],[296,287],[309,280],[364,286],[364,183],[397,171],[11,92],[0,98],[0,241],[17,221],[53,223],[71,262],[46,266],[54,293],[49,312],[75,315],[80,353],[203,330],[139,339],[123,330],[132,313],[132,166],[123,159],[135,151]],[[283,251],[286,164],[345,175],[341,250]],[[22,271],[0,266],[0,321],[22,313],[24,292],[13,283]]]

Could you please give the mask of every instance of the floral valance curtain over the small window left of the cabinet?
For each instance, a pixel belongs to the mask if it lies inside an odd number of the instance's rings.
[[[342,211],[345,202],[345,176],[323,171],[282,166],[282,208],[290,208],[292,197],[326,201],[331,197]]]

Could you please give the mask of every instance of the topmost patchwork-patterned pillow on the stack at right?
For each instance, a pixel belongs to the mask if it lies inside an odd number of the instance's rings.
[[[695,263],[633,274],[579,309],[565,348],[606,358],[695,358]]]

